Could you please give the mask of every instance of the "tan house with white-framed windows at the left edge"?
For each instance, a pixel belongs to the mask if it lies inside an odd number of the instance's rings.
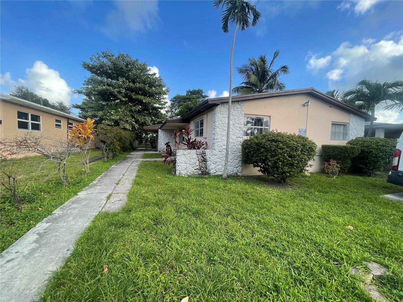
[[[66,139],[69,130],[83,121],[77,116],[0,93],[1,138],[23,136],[27,131],[32,131],[52,139]]]

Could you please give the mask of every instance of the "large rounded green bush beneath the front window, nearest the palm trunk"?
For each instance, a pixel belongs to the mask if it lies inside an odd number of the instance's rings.
[[[242,142],[242,162],[285,182],[290,176],[305,171],[309,161],[314,159],[316,147],[307,137],[269,131]]]

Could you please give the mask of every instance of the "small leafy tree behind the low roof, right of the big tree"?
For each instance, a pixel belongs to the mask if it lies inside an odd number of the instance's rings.
[[[207,98],[208,95],[204,94],[203,89],[189,89],[185,94],[177,94],[170,99],[168,117],[176,118],[185,116]]]

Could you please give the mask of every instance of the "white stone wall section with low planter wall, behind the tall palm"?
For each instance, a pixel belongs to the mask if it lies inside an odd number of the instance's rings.
[[[231,136],[228,160],[229,175],[241,175],[243,141],[243,115],[245,101],[232,103]],[[207,174],[222,175],[224,172],[226,128],[228,103],[221,103],[213,110],[212,149],[177,150],[177,175],[201,175],[201,169]]]

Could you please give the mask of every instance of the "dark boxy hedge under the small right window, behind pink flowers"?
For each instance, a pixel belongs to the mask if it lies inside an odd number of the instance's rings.
[[[334,159],[340,164],[340,171],[347,172],[351,166],[351,159],[358,155],[359,146],[350,145],[322,145],[322,159],[329,162]]]

